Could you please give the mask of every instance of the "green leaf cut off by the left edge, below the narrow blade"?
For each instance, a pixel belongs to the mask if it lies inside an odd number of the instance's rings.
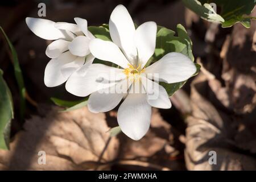
[[[0,69],[0,148],[9,149],[11,119],[14,118],[13,98]]]

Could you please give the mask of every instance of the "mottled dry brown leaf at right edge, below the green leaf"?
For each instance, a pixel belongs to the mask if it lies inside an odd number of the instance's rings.
[[[255,22],[250,29],[241,24],[234,26],[220,52],[223,81],[218,76],[208,77],[217,100],[237,114],[251,113],[256,106],[256,52],[250,48],[255,28]]]

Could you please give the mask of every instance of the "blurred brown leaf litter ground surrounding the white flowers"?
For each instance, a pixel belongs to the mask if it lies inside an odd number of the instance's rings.
[[[171,97],[172,109],[153,109],[150,131],[139,141],[124,134],[109,137],[117,126],[117,109],[92,114],[83,109],[59,113],[51,97],[79,100],[65,85],[47,88],[44,69],[46,47],[27,27],[27,16],[38,17],[38,3],[46,3],[45,19],[89,26],[109,22],[115,6],[126,6],[134,22],[152,20],[176,31],[183,24],[193,42],[193,55],[201,65]],[[254,10],[251,16],[256,16]],[[11,123],[10,150],[0,150],[0,169],[22,170],[255,170],[256,169],[256,23],[230,28],[209,23],[179,0],[1,1],[0,26],[18,53],[27,93],[25,119]],[[3,38],[3,36],[1,36]],[[10,51],[0,42],[0,68],[19,110],[19,90]],[[0,101],[1,102],[1,101]],[[39,164],[39,151],[46,164]],[[210,151],[216,164],[210,164]]]

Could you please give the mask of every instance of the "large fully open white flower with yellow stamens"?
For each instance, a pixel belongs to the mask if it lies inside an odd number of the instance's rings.
[[[109,31],[113,42],[94,39],[89,49],[94,57],[111,61],[123,69],[92,64],[86,75],[82,67],[69,78],[68,92],[76,96],[89,96],[88,109],[93,113],[114,109],[122,98],[117,121],[123,133],[134,140],[141,139],[150,127],[151,106],[170,108],[171,102],[163,86],[154,82],[156,73],[159,81],[168,84],[187,80],[196,72],[195,64],[181,53],[168,53],[156,63],[144,68],[154,54],[156,44],[156,23],[146,22],[135,30],[133,20],[126,8],[118,5],[109,21]],[[115,77],[110,74],[115,72]],[[103,81],[102,81],[103,80]],[[156,92],[151,85],[157,85],[158,97],[151,100]],[[110,88],[123,90],[128,85],[128,94],[109,93]],[[143,85],[140,93],[134,93],[137,85]],[[127,90],[126,89],[126,90]],[[111,90],[111,89],[110,89]]]

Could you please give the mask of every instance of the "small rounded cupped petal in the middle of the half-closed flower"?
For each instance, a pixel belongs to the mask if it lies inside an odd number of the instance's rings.
[[[77,36],[68,45],[68,49],[73,55],[86,56],[90,53],[89,42],[90,42],[90,39],[86,38],[86,36]]]

